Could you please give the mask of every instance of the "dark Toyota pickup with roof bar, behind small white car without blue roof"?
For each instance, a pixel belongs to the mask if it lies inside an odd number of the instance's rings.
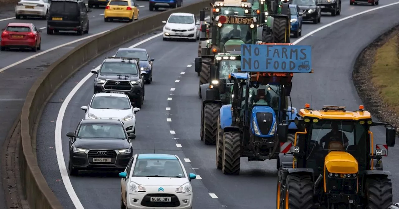
[[[100,92],[127,94],[130,102],[141,108],[144,100],[144,75],[138,58],[107,57],[94,79],[94,94]]]

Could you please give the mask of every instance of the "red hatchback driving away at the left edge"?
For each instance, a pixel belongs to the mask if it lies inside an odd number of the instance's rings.
[[[0,51],[10,48],[40,50],[40,32],[41,30],[32,23],[8,23],[7,27],[2,29]]]

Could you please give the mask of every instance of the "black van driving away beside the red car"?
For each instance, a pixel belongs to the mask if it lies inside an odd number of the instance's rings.
[[[89,33],[91,12],[83,0],[52,0],[47,19],[47,34],[58,31],[77,31],[79,35]]]

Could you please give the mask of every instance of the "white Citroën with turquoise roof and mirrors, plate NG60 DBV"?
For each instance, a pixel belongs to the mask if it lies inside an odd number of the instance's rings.
[[[120,208],[191,209],[193,190],[182,161],[172,154],[135,154],[119,173]]]

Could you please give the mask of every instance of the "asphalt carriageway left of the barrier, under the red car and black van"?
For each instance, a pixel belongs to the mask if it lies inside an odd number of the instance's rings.
[[[184,4],[191,4],[199,0],[185,0]],[[140,18],[146,16],[156,15],[159,12],[150,12],[148,10],[147,1],[138,1],[140,5]],[[162,11],[162,9],[160,10]],[[15,18],[4,16],[4,14],[12,14],[12,12],[4,12],[0,18],[0,29],[5,28],[10,22],[28,22],[34,23],[36,27],[41,28],[42,44],[41,50],[38,52],[30,51],[2,51],[0,52],[0,144],[3,144],[8,131],[10,130],[14,120],[18,117],[26,94],[31,88],[32,84],[40,76],[53,61],[56,61],[65,53],[86,41],[97,33],[101,33],[126,22],[104,22],[104,7],[93,8],[89,13],[90,28],[89,34],[83,36],[76,35],[76,33],[60,33],[59,35],[47,35],[45,27],[47,21],[40,19],[22,19],[16,20]],[[13,15],[13,14],[12,14]],[[162,20],[160,20],[162,21]],[[75,42],[74,42],[75,41]],[[73,43],[71,43],[73,42]],[[67,43],[71,43],[67,45]],[[43,51],[54,49],[48,53]],[[32,56],[37,56],[32,58]],[[27,58],[28,61],[22,61]],[[12,66],[11,66],[12,65]],[[2,184],[2,182],[0,182]],[[6,204],[3,189],[0,189],[0,209],[5,209]]]

